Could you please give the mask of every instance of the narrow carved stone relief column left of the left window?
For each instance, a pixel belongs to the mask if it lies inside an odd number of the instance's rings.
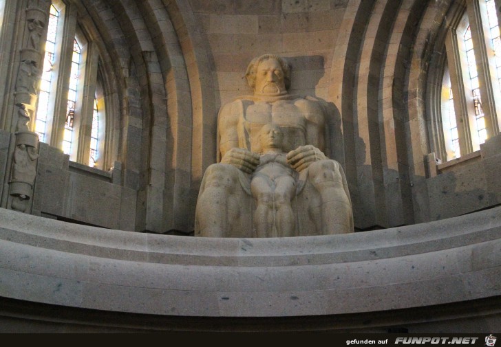
[[[15,124],[12,167],[9,180],[7,208],[30,213],[36,164],[39,157],[39,136],[28,124],[35,115],[36,98],[41,78],[42,43],[45,40],[50,0],[29,0],[25,9],[25,27],[19,71],[14,91]]]

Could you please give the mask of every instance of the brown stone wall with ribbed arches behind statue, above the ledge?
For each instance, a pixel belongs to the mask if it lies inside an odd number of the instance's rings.
[[[32,214],[190,234],[200,180],[216,161],[217,111],[250,93],[242,79],[246,65],[265,52],[289,59],[291,93],[328,102],[329,155],[345,169],[356,230],[433,221],[500,202],[492,175],[500,164],[495,139],[484,145],[493,150],[461,165],[437,171],[429,159],[438,153],[435,99],[444,36],[465,1],[66,3],[107,71],[106,162],[92,170],[68,161],[54,144],[41,144]],[[6,148],[17,117],[17,36],[27,5],[3,1],[3,207]]]

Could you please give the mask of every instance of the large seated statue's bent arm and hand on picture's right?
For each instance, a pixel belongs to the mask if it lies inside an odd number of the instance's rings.
[[[327,159],[323,154],[326,111],[314,100],[299,100],[296,106],[306,117],[306,145],[291,150],[287,154],[287,161],[292,168],[301,172],[315,161]]]

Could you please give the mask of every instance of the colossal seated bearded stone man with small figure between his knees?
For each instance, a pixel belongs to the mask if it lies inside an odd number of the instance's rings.
[[[353,232],[343,168],[324,155],[327,113],[314,98],[288,93],[284,58],[248,65],[253,96],[218,115],[219,164],[207,168],[195,236],[283,237]]]

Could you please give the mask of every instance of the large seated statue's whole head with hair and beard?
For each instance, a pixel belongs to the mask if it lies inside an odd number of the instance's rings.
[[[277,96],[290,87],[290,67],[276,54],[263,54],[251,60],[245,74],[254,93]]]

